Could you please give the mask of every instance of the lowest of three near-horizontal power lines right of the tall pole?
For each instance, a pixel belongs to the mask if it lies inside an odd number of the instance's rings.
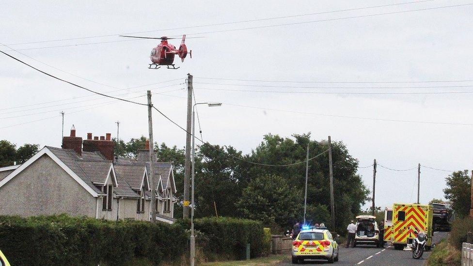
[[[473,87],[473,86],[472,86]],[[231,90],[220,88],[200,88],[194,89],[210,90],[210,91],[227,91],[227,92],[249,92],[249,93],[278,93],[278,94],[354,94],[354,95],[413,95],[413,94],[472,94],[473,91],[461,92],[422,92],[422,93],[351,93],[351,92],[300,92],[300,91],[257,91],[257,90]]]

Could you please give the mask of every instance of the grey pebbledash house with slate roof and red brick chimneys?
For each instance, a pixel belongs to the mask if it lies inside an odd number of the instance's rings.
[[[0,215],[150,220],[155,207],[158,220],[173,223],[172,164],[154,160],[151,182],[143,156],[149,144],[137,159],[115,157],[113,148],[110,133],[94,139],[88,133],[82,141],[73,127],[62,148],[45,146],[22,165],[0,168]],[[156,193],[154,204],[151,193]]]

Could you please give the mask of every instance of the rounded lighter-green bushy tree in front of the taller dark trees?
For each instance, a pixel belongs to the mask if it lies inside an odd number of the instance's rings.
[[[266,226],[291,227],[300,216],[302,193],[278,175],[253,179],[237,203],[245,218],[261,220]]]

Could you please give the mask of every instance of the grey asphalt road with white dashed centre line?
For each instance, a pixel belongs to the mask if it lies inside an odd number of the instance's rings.
[[[441,239],[447,237],[445,232],[435,232],[433,242],[438,243]],[[345,248],[340,246],[339,261],[335,264],[341,265],[360,265],[360,266],[404,266],[404,265],[424,265],[430,251],[424,252],[422,259],[412,259],[410,250],[394,250],[393,246],[387,248],[376,248],[372,246],[358,245],[356,248]],[[312,260],[304,261],[302,265],[320,265],[327,261]],[[280,265],[292,265],[290,258]]]

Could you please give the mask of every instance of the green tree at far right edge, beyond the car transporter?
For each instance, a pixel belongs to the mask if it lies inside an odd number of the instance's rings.
[[[456,215],[465,217],[470,212],[472,178],[468,170],[453,172],[445,178],[447,188],[443,189],[445,199],[452,202]]]

